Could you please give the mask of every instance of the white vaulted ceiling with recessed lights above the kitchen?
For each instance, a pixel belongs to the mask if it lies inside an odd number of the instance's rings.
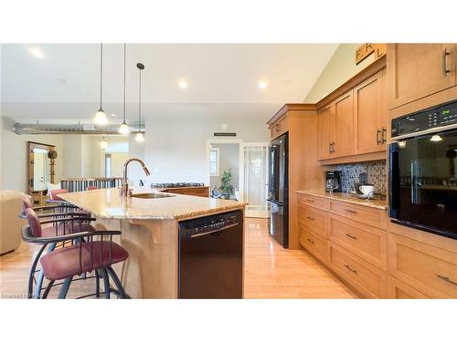
[[[302,102],[337,44],[128,44],[128,114],[265,116]],[[2,115],[90,119],[100,100],[100,45],[2,45]],[[103,102],[122,116],[122,44],[104,46]],[[179,82],[186,81],[186,88]],[[266,88],[260,88],[265,82]],[[223,104],[223,106],[220,106]],[[114,118],[114,117],[112,117]]]

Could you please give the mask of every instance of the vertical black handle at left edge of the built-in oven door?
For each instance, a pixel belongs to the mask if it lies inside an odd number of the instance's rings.
[[[399,144],[392,142],[388,145],[388,212],[391,218],[399,217]]]

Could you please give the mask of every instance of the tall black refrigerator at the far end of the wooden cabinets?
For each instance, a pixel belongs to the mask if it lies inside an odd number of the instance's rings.
[[[270,234],[284,248],[289,247],[288,135],[272,140],[269,146],[268,199]]]

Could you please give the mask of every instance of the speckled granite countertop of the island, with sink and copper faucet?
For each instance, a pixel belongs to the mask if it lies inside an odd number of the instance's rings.
[[[141,190],[132,188],[132,190],[133,194],[158,192],[143,188]],[[186,220],[217,212],[242,209],[247,204],[177,193],[170,197],[155,199],[122,198],[116,188],[68,192],[59,194],[59,197],[101,219]]]

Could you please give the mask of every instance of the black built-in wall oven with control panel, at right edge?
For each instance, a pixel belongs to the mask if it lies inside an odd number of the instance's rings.
[[[457,101],[392,119],[389,216],[457,239]]]

